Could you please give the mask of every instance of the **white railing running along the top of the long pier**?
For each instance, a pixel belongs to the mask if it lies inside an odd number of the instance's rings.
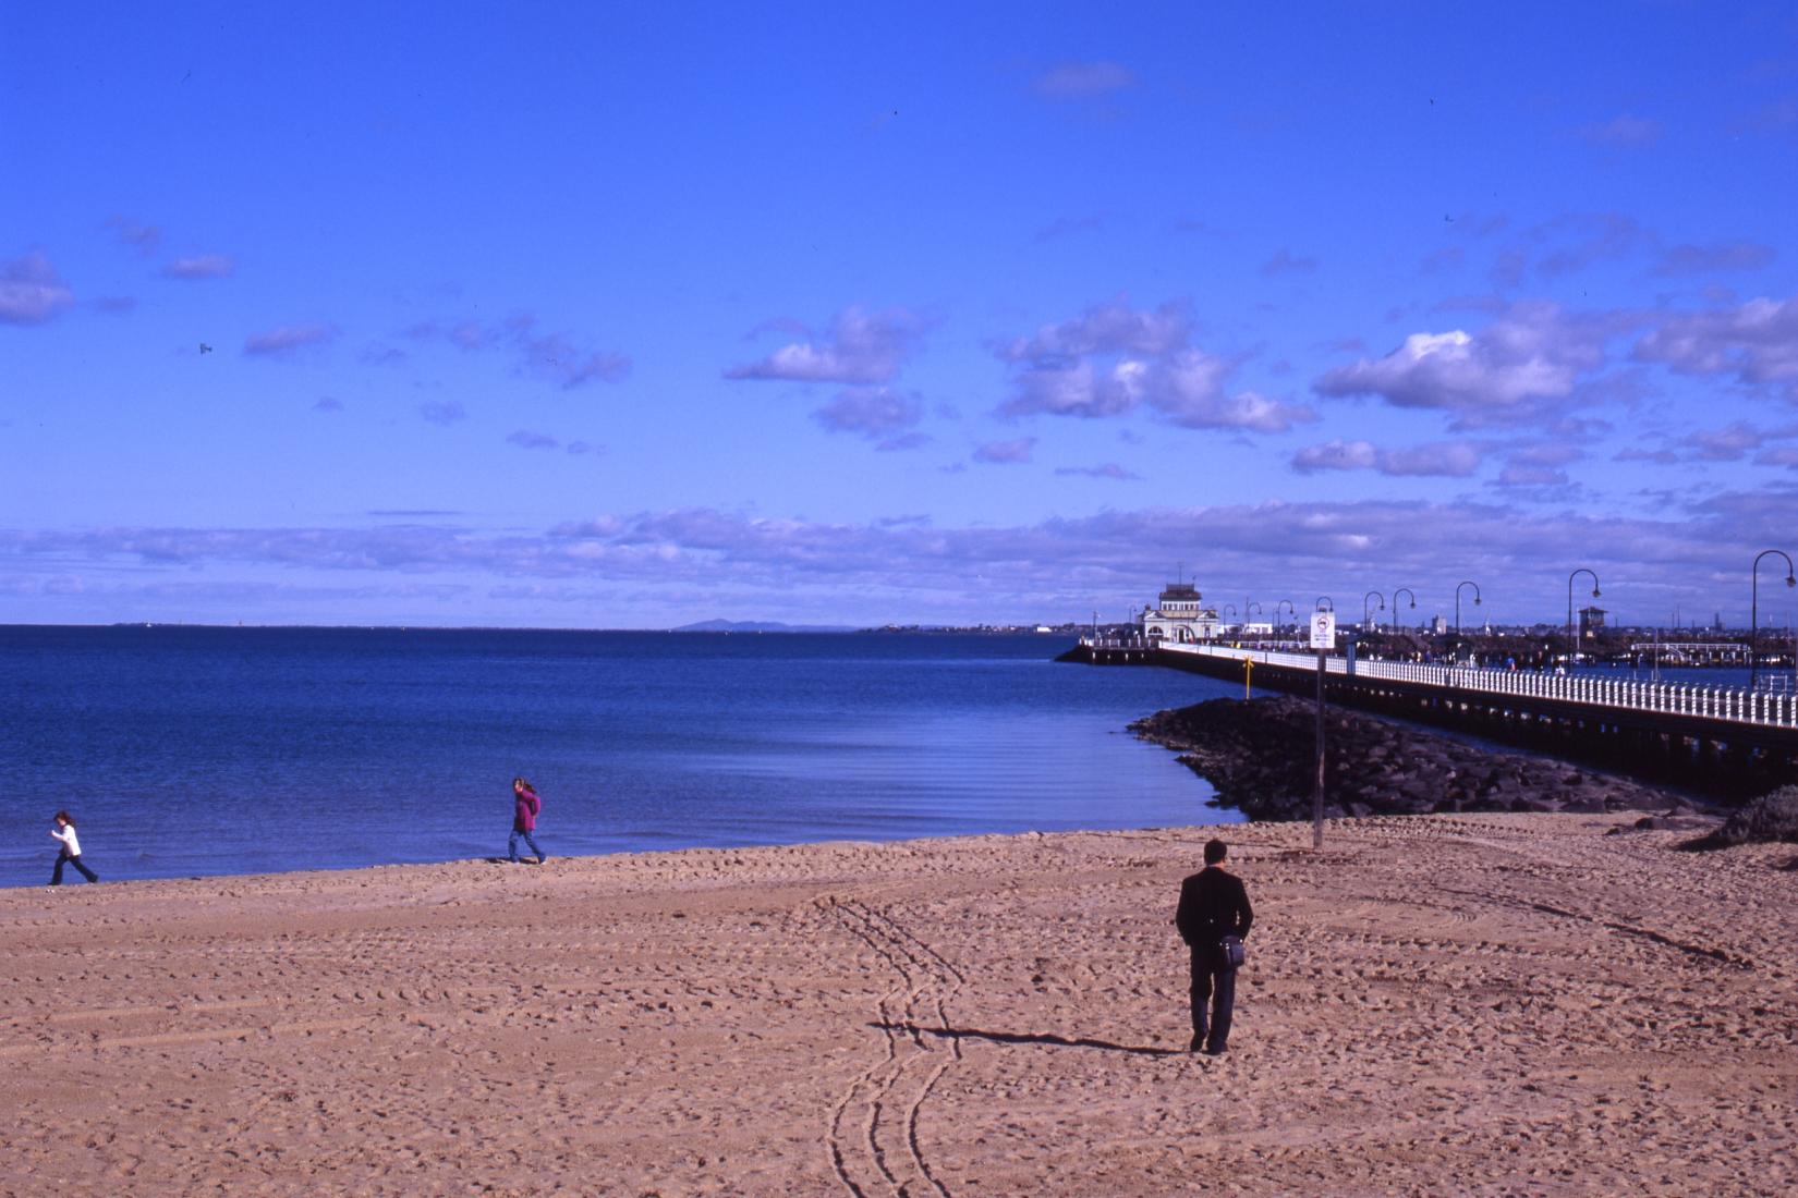
[[[1255,665],[1316,670],[1314,654],[1289,654],[1271,648],[1230,648],[1224,645],[1170,645],[1160,648],[1194,657],[1224,657],[1253,661]],[[1323,659],[1329,674],[1347,674],[1345,657]],[[1798,695],[1785,691],[1751,691],[1739,686],[1687,686],[1685,683],[1636,683],[1629,679],[1532,674],[1528,670],[1487,670],[1478,666],[1426,666],[1410,661],[1357,661],[1356,677],[1388,679],[1393,683],[1420,683],[1444,690],[1482,691],[1489,695],[1521,695],[1577,702],[1591,708],[1618,708],[1624,711],[1665,711],[1694,715],[1730,724],[1760,724],[1771,727],[1798,727]]]

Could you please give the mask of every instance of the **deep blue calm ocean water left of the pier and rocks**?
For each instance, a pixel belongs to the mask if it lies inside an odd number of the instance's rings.
[[[1237,819],[1052,636],[0,627],[0,885]]]

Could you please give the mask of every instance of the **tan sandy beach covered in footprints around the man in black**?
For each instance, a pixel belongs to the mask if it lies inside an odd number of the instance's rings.
[[[7,1194],[1782,1194],[1793,846],[1622,815],[0,891]]]

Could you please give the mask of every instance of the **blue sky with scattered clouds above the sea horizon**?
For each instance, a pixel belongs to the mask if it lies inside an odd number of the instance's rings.
[[[1789,4],[0,0],[0,621],[1740,623],[1798,555]]]

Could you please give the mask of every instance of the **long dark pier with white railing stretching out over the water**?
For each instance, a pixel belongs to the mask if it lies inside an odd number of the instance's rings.
[[[1316,654],[1084,638],[1068,659],[1153,665],[1313,695]],[[1798,781],[1798,695],[1480,666],[1323,657],[1325,700],[1654,781],[1740,797]]]

